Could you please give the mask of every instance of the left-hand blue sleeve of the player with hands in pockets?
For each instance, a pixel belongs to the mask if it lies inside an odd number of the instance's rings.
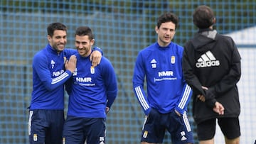
[[[142,106],[144,113],[149,114],[151,107],[144,91],[144,77],[146,74],[145,67],[143,65],[142,53],[140,52],[134,67],[134,75],[132,79],[134,94],[137,97],[139,104]]]

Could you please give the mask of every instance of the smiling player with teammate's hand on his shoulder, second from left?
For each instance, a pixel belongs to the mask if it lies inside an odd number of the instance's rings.
[[[95,39],[92,30],[81,26],[75,31],[77,67],[67,82],[69,94],[63,143],[105,143],[105,118],[117,97],[117,78],[110,60],[102,56],[92,67],[90,55]]]

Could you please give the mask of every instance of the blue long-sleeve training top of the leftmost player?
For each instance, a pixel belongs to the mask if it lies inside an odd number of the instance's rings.
[[[72,76],[65,70],[67,57],[76,50],[57,53],[48,44],[33,57],[33,91],[30,109],[64,109],[64,83]]]

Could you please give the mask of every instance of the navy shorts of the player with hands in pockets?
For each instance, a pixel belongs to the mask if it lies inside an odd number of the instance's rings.
[[[151,109],[149,116],[145,118],[141,141],[163,143],[166,130],[171,133],[172,143],[193,143],[193,132],[186,113],[178,116],[175,111],[159,113],[155,109]]]

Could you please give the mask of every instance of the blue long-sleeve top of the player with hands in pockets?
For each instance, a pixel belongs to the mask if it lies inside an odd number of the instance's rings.
[[[137,57],[133,88],[144,113],[151,108],[160,113],[176,109],[184,113],[191,99],[192,90],[183,79],[181,61],[183,48],[176,43],[161,47],[158,43],[141,50]],[[144,79],[146,77],[146,92]]]

